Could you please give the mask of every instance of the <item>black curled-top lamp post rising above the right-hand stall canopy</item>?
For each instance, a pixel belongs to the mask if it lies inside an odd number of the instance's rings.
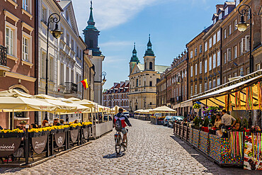
[[[246,6],[247,9],[241,9],[242,6]],[[252,13],[252,9],[249,5],[247,4],[242,4],[241,6],[239,6],[239,14],[240,16],[240,23],[238,23],[236,25],[237,29],[240,32],[244,32],[246,31],[246,28],[250,25],[250,38],[249,38],[249,74],[251,74],[252,72],[254,72],[254,60],[252,57],[252,45],[251,45],[251,40],[252,40],[252,15],[254,15],[255,13]],[[244,21],[244,16],[249,16],[250,17],[250,23],[246,23],[246,21]]]

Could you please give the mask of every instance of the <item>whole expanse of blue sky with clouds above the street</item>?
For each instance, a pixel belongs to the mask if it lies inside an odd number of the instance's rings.
[[[72,0],[79,33],[86,27],[90,1]],[[233,0],[231,0],[233,1]],[[156,64],[170,65],[186,43],[212,24],[215,5],[221,0],[93,0],[93,17],[101,31],[98,45],[107,73],[104,89],[128,79],[133,43],[143,62],[151,34]]]

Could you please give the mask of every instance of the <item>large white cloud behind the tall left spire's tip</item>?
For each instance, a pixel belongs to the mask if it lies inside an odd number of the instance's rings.
[[[72,1],[76,21],[81,31],[86,27],[89,19],[90,1]],[[93,0],[93,18],[96,21],[96,27],[99,30],[106,30],[119,26],[129,21],[145,7],[155,5],[155,2],[156,0]]]

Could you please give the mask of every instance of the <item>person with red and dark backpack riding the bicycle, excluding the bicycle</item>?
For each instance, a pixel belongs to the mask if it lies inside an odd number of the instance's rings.
[[[132,126],[128,118],[123,114],[124,109],[119,108],[118,114],[114,116],[113,123],[115,125],[115,130],[121,131],[123,133],[123,142],[127,140],[127,130],[125,127]]]

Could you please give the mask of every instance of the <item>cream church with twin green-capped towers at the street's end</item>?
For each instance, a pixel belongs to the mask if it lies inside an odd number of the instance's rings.
[[[144,54],[144,64],[140,64],[134,45],[130,60],[130,93],[128,95],[131,113],[138,109],[156,107],[156,82],[160,79],[161,73],[169,67],[156,65],[155,59],[150,35]]]

